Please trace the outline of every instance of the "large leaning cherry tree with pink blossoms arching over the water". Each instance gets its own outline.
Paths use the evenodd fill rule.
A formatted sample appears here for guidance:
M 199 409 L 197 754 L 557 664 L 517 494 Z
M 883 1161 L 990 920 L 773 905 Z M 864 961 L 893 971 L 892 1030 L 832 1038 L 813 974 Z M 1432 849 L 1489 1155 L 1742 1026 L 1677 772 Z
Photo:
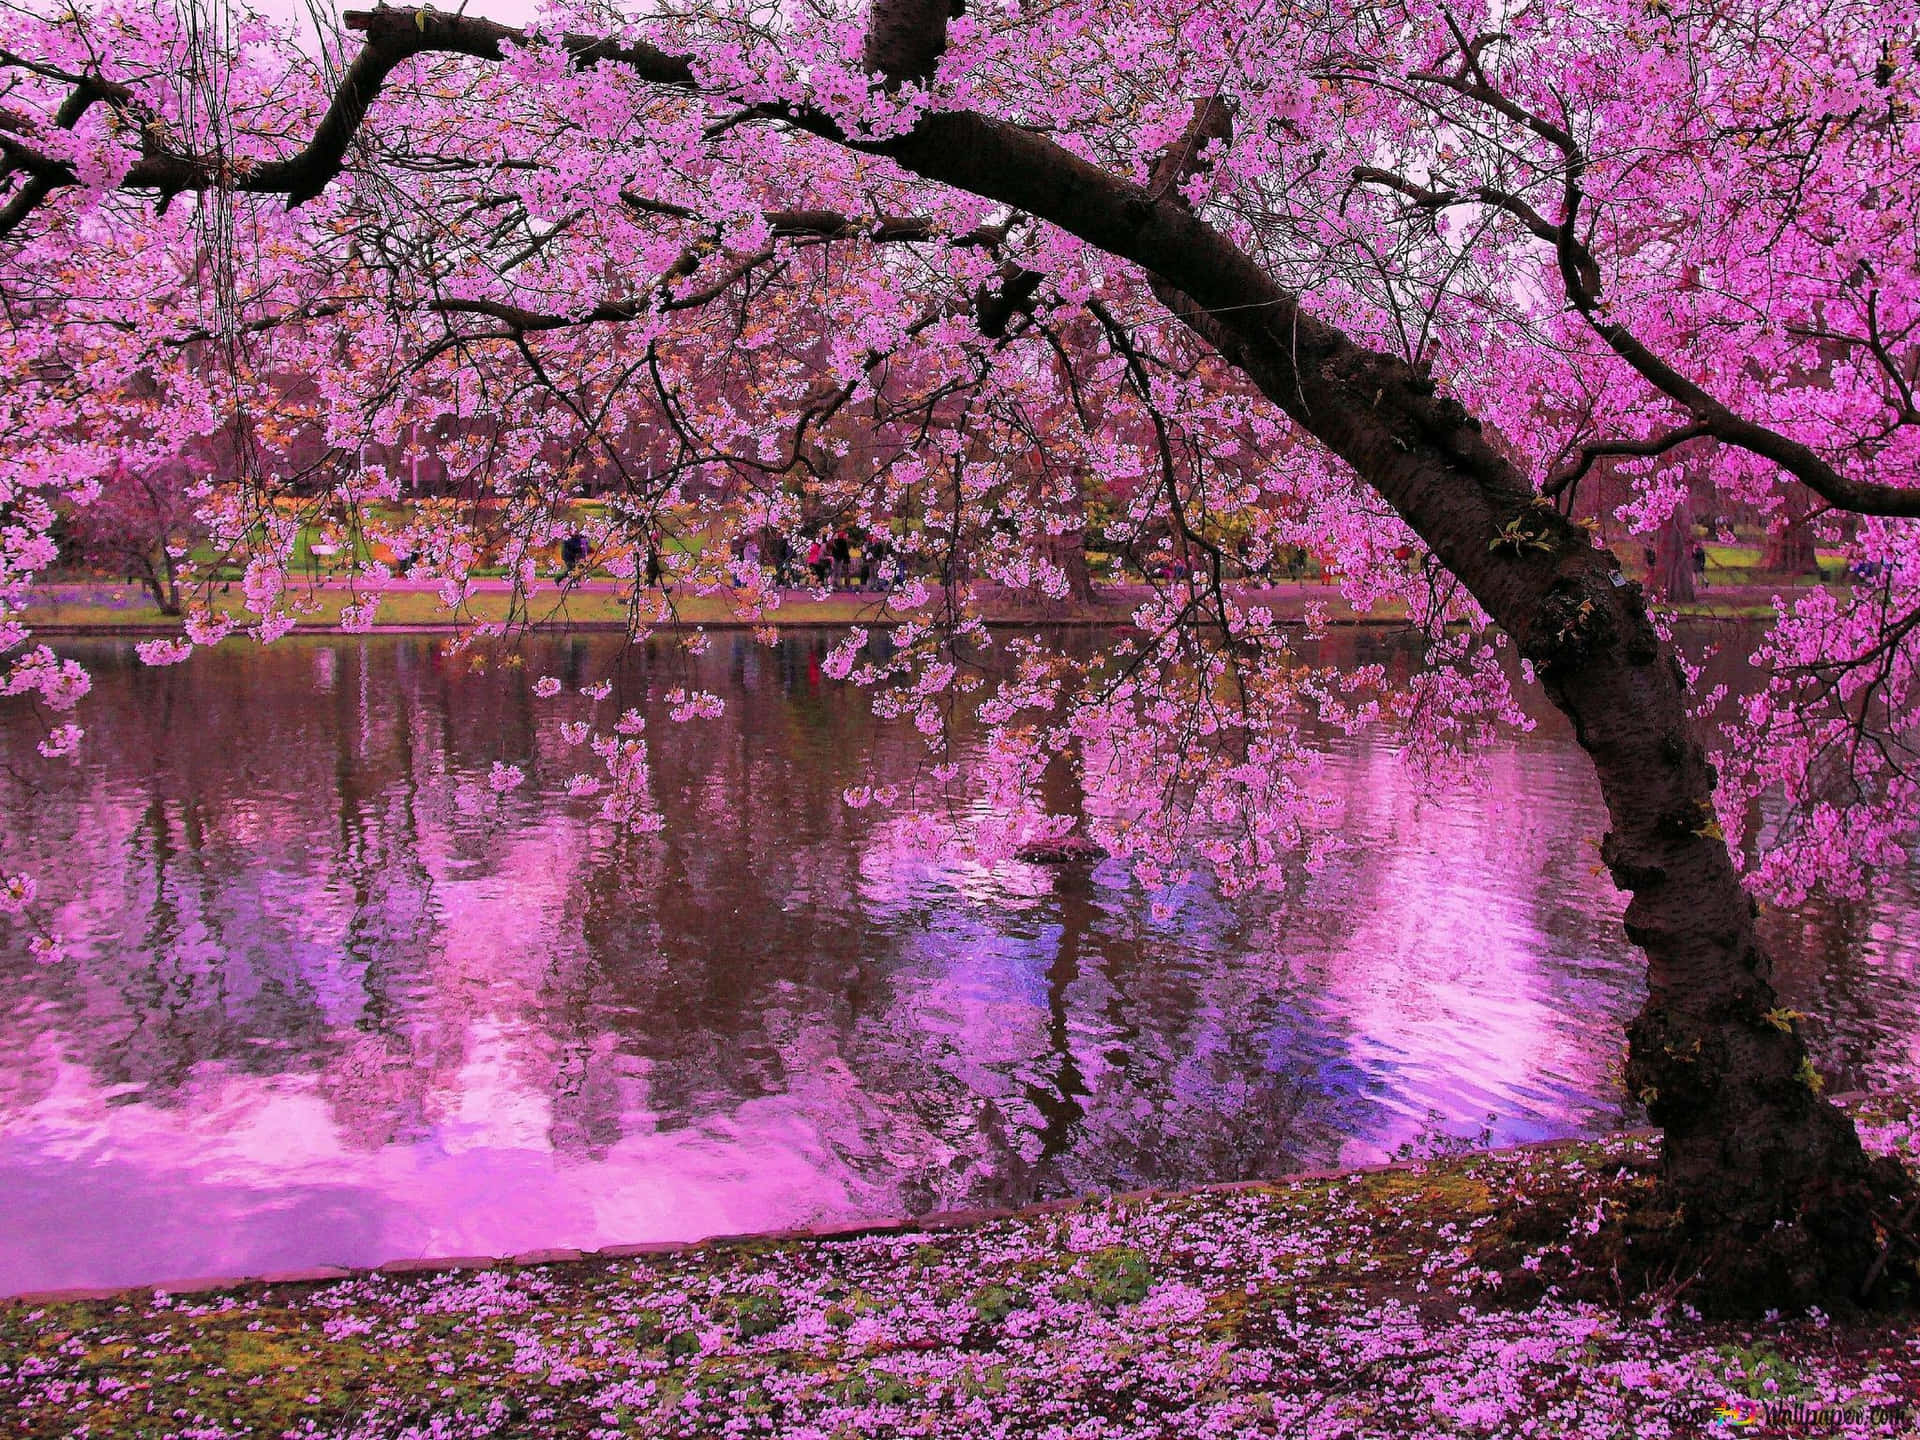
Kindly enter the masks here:
M 484 551 L 538 595 L 584 467 L 612 476 L 589 540 L 628 576 L 670 507 L 795 540 L 912 516 L 891 653 L 856 632 L 829 670 L 935 739 L 977 707 L 1016 841 L 1062 833 L 1033 801 L 1075 756 L 1146 885 L 1311 860 L 1315 735 L 1396 720 L 1444 770 L 1513 718 L 1511 645 L 1611 814 L 1647 956 L 1628 1087 L 1703 1288 L 1885 1290 L 1912 1185 L 1820 1098 L 1749 887 L 1870 883 L 1920 810 L 1920 36 L 1895 10 L 682 0 L 528 29 L 382 8 L 319 50 L 140 0 L 23 19 L 0 54 L 6 687 L 77 699 L 27 649 L 52 503 L 240 415 L 259 444 L 205 518 L 252 557 L 261 639 L 296 616 L 290 472 L 374 528 L 399 476 L 361 457 L 420 432 L 490 497 L 484 540 L 457 507 L 394 536 L 455 611 Z M 317 390 L 300 417 L 288 374 Z M 134 422 L 136 386 L 167 426 Z M 300 426 L 324 459 L 290 459 Z M 636 434 L 664 451 L 639 463 Z M 1638 534 L 1711 486 L 1870 580 L 1782 601 L 1759 695 L 1693 695 L 1571 518 L 1596 467 L 1630 476 Z M 1068 593 L 1050 555 L 1089 484 L 1125 497 L 1121 545 L 1165 534 L 1181 564 L 1117 651 L 1025 645 L 985 685 L 964 580 Z M 1405 603 L 1428 668 L 1304 664 L 1231 584 L 1290 547 L 1357 605 Z M 776 616 L 724 545 L 664 580 L 636 630 L 676 586 Z M 228 630 L 202 609 L 150 657 Z M 591 735 L 584 781 L 643 822 L 639 728 Z M 931 822 L 933 789 L 854 799 Z

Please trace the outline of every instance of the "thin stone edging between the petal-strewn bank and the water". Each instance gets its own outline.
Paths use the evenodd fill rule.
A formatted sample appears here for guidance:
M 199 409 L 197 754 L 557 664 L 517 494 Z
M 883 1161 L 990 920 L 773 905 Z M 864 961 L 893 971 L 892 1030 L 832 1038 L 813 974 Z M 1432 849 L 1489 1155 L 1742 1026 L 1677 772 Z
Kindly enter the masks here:
M 1836 1100 L 1864 1100 L 1870 1098 L 1870 1091 L 1857 1091 L 1849 1094 L 1837 1094 Z M 1649 1139 L 1659 1131 L 1653 1127 L 1632 1127 L 1620 1131 L 1607 1131 L 1603 1135 L 1576 1135 L 1557 1140 L 1524 1140 L 1521 1144 L 1496 1146 L 1488 1150 L 1473 1150 L 1459 1156 L 1450 1156 L 1452 1160 L 1476 1160 L 1476 1158 L 1509 1158 L 1524 1154 L 1551 1154 L 1555 1150 L 1569 1150 L 1582 1144 L 1596 1144 L 1601 1140 L 1617 1139 Z M 219 1294 L 219 1292 L 261 1292 L 280 1286 L 309 1286 L 309 1284 L 334 1284 L 340 1281 L 365 1281 L 376 1277 L 407 1277 L 407 1275 L 451 1275 L 457 1271 L 488 1271 L 488 1269 L 534 1269 L 549 1265 L 607 1265 L 620 1260 L 637 1260 L 645 1256 L 680 1256 L 695 1250 L 733 1250 L 760 1244 L 833 1244 L 841 1240 L 864 1240 L 870 1236 L 883 1235 L 945 1235 L 954 1231 L 970 1231 L 981 1225 L 993 1225 L 1000 1221 L 1021 1221 L 1039 1219 L 1043 1215 L 1058 1215 L 1071 1210 L 1081 1210 L 1083 1206 L 1100 1206 L 1114 1202 L 1137 1202 L 1137 1200 L 1175 1200 L 1181 1196 L 1202 1196 L 1202 1194 L 1244 1194 L 1254 1190 L 1286 1190 L 1296 1185 L 1315 1185 L 1323 1181 L 1340 1181 L 1357 1175 L 1384 1175 L 1394 1171 L 1413 1171 L 1434 1164 L 1434 1158 L 1413 1158 L 1413 1160 L 1386 1160 L 1373 1165 L 1334 1165 L 1327 1169 L 1304 1169 L 1292 1175 L 1275 1175 L 1263 1181 L 1215 1181 L 1210 1185 L 1171 1185 L 1171 1187 L 1148 1187 L 1140 1190 L 1114 1190 L 1114 1192 L 1089 1192 L 1077 1196 L 1060 1196 L 1056 1200 L 1037 1200 L 1027 1206 L 1014 1208 L 989 1208 L 989 1210 L 935 1210 L 924 1215 L 900 1215 L 893 1219 L 851 1219 L 851 1221 L 829 1221 L 822 1225 L 799 1225 L 778 1231 L 753 1231 L 745 1235 L 705 1235 L 695 1240 L 641 1240 L 637 1244 L 607 1244 L 597 1250 L 574 1250 L 570 1246 L 553 1246 L 543 1250 L 522 1250 L 515 1256 L 405 1256 L 397 1260 L 386 1260 L 378 1265 L 309 1265 L 303 1269 L 286 1271 L 265 1271 L 261 1275 L 205 1275 L 182 1281 L 152 1281 L 148 1284 L 117 1284 L 117 1286 L 75 1286 L 63 1290 L 25 1290 L 21 1294 L 0 1296 L 0 1308 L 36 1308 L 36 1306 L 63 1306 L 63 1304 L 92 1304 L 92 1302 L 140 1302 L 150 1300 L 156 1294 L 165 1296 L 186 1296 L 186 1294 Z

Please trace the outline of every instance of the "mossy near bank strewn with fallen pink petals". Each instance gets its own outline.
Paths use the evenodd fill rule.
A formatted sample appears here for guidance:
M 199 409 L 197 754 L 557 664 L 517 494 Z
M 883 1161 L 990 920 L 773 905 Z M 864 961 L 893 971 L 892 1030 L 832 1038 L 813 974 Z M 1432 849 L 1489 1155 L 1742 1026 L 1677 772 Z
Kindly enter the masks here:
M 1920 1104 L 1862 1135 L 1920 1156 Z M 1920 1430 L 1910 1317 L 1563 1294 L 1594 1292 L 1580 1258 L 1645 1212 L 1649 1162 L 1617 1137 L 948 1233 L 12 1306 L 0 1434 Z

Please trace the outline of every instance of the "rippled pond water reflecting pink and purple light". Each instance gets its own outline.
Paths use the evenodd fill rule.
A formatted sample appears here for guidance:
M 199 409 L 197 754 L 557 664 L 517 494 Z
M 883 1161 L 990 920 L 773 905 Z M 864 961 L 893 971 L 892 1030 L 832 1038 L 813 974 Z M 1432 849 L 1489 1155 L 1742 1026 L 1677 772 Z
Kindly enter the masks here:
M 227 645 L 96 676 L 79 766 L 0 714 L 0 1294 L 689 1238 L 1277 1175 L 1622 1121 L 1642 966 L 1567 730 L 1423 797 L 1340 741 L 1350 847 L 1162 918 L 1114 860 L 981 868 L 841 801 L 924 762 L 822 674 L 831 634 L 701 657 L 536 641 L 670 685 L 666 828 L 609 845 L 561 708 L 432 637 Z M 1321 659 L 1405 662 L 1336 632 Z M 964 758 L 964 756 L 962 756 Z M 528 783 L 470 799 L 495 760 Z M 1836 1089 L 1920 1077 L 1910 877 L 1768 912 Z

